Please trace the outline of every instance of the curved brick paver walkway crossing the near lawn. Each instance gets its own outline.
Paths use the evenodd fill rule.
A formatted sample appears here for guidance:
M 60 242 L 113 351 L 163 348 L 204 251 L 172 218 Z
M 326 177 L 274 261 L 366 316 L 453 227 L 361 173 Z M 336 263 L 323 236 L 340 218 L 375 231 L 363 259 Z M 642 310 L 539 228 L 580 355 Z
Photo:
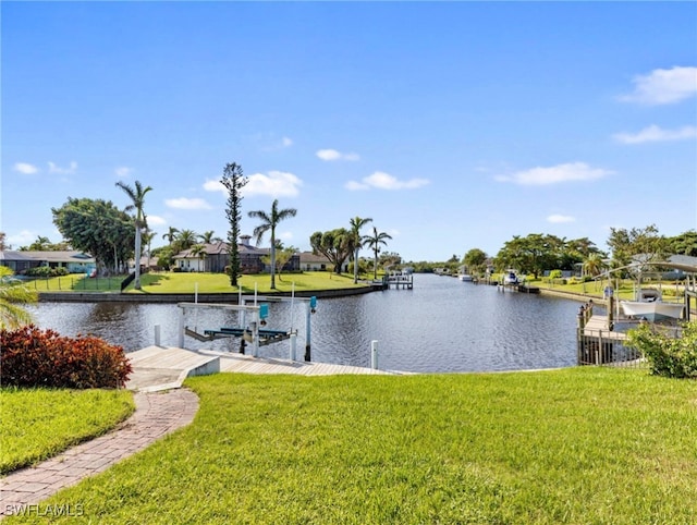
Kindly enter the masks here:
M 0 478 L 0 516 L 20 512 L 82 478 L 106 471 L 162 436 L 188 425 L 198 398 L 185 389 L 134 395 L 135 413 L 117 429 L 34 467 Z

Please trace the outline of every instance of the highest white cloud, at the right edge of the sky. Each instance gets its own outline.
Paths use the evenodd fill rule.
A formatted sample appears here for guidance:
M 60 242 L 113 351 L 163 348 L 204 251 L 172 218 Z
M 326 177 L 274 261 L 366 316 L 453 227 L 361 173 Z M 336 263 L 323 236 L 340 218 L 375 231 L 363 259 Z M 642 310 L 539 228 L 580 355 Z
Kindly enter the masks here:
M 697 94 L 697 68 L 674 66 L 653 70 L 648 75 L 635 76 L 634 93 L 620 100 L 648 106 L 680 102 Z

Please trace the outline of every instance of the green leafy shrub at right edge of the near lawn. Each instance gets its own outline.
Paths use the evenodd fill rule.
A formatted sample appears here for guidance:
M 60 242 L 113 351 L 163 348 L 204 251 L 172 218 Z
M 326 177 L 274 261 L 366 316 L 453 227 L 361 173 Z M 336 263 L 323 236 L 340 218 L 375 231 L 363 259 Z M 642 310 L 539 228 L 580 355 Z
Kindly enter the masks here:
M 683 326 L 682 338 L 671 338 L 643 323 L 628 332 L 628 342 L 651 366 L 651 374 L 674 378 L 697 378 L 697 321 Z

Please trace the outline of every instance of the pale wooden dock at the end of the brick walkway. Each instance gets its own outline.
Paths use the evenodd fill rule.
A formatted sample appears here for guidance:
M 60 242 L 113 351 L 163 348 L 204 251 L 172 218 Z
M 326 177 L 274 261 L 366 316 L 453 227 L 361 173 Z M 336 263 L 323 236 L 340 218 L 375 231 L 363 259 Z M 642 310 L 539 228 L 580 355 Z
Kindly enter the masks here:
M 175 346 L 148 346 L 131 352 L 127 356 L 133 367 L 133 374 L 131 374 L 126 388 L 145 392 L 179 388 L 189 376 L 203 376 L 219 371 L 299 376 L 409 374 L 359 366 L 253 357 L 212 350 L 185 350 Z

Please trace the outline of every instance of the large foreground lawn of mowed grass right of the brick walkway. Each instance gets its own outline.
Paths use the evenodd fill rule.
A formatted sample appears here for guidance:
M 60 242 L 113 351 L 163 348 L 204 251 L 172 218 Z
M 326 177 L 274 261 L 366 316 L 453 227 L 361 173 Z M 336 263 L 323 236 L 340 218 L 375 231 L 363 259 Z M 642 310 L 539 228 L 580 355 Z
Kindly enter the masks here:
M 44 503 L 100 524 L 697 521 L 694 381 L 572 368 L 186 384 L 191 426 Z

